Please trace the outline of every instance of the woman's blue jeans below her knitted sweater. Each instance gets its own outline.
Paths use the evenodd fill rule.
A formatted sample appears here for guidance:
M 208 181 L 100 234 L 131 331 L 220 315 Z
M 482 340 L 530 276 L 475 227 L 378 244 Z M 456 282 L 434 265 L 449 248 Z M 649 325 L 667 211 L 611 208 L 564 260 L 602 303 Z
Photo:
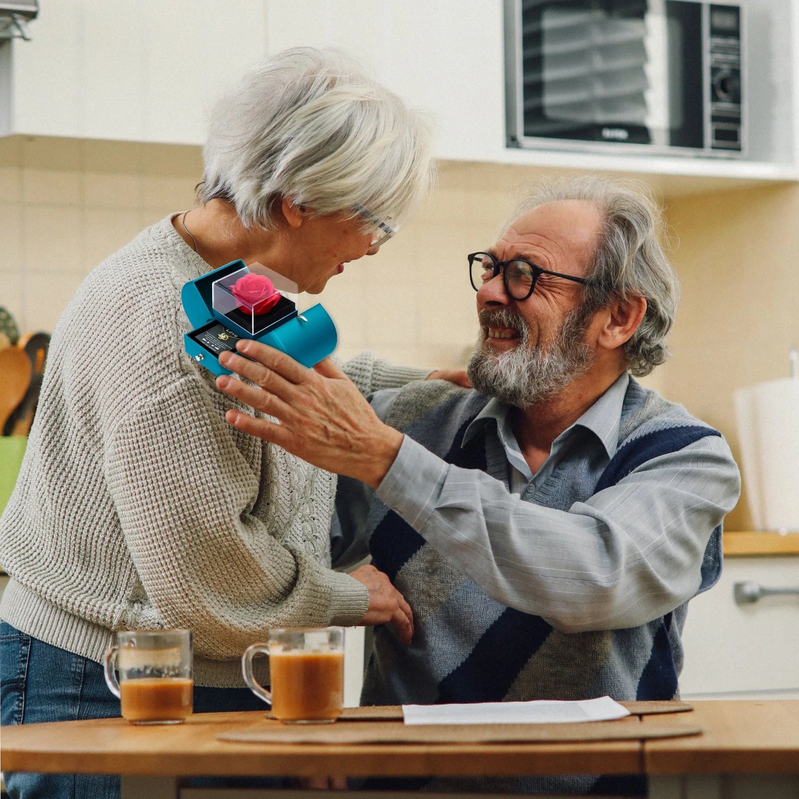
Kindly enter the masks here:
M 194 688 L 194 712 L 265 710 L 248 688 Z M 119 716 L 119 700 L 98 663 L 0 622 L 0 722 L 77 721 Z M 119 777 L 5 773 L 12 799 L 119 799 Z M 197 781 L 199 785 L 279 787 L 280 780 Z

